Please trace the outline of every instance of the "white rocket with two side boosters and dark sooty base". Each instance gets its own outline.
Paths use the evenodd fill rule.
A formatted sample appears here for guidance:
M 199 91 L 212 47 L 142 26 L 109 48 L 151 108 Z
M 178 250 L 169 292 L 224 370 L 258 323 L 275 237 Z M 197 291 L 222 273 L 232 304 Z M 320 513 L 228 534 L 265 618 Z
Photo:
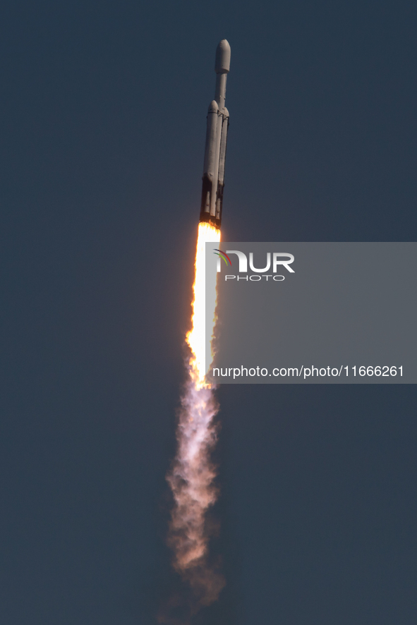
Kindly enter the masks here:
M 229 111 L 224 106 L 226 80 L 230 69 L 230 46 L 224 39 L 217 46 L 216 94 L 207 114 L 205 136 L 203 190 L 201 193 L 200 222 L 209 222 L 220 228 L 224 188 L 224 162 L 226 160 Z

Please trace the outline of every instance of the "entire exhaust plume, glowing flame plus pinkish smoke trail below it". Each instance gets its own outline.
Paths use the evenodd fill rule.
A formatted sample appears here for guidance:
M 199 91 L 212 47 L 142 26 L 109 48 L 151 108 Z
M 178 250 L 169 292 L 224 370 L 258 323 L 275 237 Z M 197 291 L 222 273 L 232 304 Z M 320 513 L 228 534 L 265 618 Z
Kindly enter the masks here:
M 213 357 L 211 353 L 211 357 L 205 360 L 206 315 L 209 315 L 212 336 L 217 299 L 213 283 L 206 301 L 205 243 L 219 241 L 219 230 L 210 224 L 199 224 L 192 328 L 186 336 L 191 348 L 189 377 L 181 398 L 176 458 L 167 476 L 174 494 L 168 538 L 169 546 L 174 551 L 174 569 L 191 586 L 199 605 L 210 605 L 224 586 L 224 578 L 207 563 L 210 532 L 205 523 L 205 513 L 217 499 L 213 483 L 216 471 L 210 461 L 210 451 L 216 442 L 213 420 L 218 411 L 214 386 L 205 384 L 206 367 L 207 370 L 210 368 Z M 198 607 L 194 613 L 197 610 Z

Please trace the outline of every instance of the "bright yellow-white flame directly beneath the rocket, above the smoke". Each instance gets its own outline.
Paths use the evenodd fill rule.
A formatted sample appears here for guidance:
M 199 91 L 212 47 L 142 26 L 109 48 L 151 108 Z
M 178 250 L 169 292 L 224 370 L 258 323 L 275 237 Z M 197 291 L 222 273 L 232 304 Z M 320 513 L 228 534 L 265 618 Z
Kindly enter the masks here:
M 215 288 L 207 293 L 205 287 L 205 243 L 219 243 L 220 231 L 211 224 L 198 224 L 197 249 L 195 250 L 195 279 L 193 284 L 193 315 L 191 316 L 193 327 L 186 336 L 186 341 L 191 348 L 193 356 L 190 360 L 191 376 L 196 388 L 200 389 L 204 385 L 205 374 L 212 363 L 211 358 L 205 358 L 206 351 L 206 315 L 207 322 L 210 320 L 210 337 L 213 334 L 216 310 Z

